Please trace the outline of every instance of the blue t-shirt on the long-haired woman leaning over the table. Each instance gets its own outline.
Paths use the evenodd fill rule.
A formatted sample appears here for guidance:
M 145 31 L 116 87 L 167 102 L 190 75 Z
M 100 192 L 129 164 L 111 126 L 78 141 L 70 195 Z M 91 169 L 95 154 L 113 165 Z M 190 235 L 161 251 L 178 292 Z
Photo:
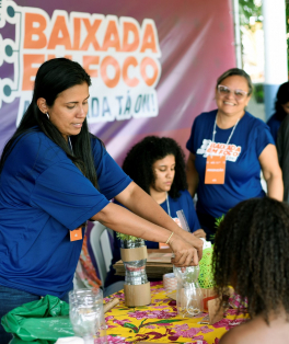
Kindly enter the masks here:
M 23 136 L 0 174 L 0 285 L 36 295 L 72 288 L 82 240 L 73 230 L 131 180 L 92 137 L 100 191 L 44 133 Z

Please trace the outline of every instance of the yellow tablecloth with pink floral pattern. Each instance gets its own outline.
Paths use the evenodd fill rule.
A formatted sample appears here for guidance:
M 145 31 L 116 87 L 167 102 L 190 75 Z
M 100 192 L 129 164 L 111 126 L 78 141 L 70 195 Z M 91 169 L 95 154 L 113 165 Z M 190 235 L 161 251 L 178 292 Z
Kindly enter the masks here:
M 124 294 L 113 294 L 120 302 L 106 312 L 109 343 L 195 343 L 217 344 L 230 329 L 245 321 L 244 316 L 236 317 L 235 309 L 229 309 L 226 318 L 213 325 L 199 324 L 206 313 L 195 318 L 177 317 L 176 302 L 165 295 L 161 282 L 151 283 L 151 305 L 144 307 L 125 307 Z M 105 301 L 109 301 L 105 298 Z

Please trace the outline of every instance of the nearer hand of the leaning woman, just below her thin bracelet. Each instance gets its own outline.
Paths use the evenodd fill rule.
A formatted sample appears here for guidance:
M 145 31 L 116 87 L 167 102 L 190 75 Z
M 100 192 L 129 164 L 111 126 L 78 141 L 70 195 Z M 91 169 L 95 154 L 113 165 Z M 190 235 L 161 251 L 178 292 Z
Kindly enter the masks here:
M 172 236 L 169 244 L 174 253 L 174 257 L 172 259 L 172 264 L 180 267 L 198 265 L 199 257 L 198 257 L 197 250 L 193 245 L 184 241 L 176 233 Z

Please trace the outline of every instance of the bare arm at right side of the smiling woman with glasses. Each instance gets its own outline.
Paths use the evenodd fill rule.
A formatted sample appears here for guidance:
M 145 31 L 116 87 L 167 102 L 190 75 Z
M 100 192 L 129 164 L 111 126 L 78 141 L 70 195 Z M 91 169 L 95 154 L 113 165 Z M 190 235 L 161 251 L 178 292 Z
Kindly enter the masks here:
M 271 144 L 267 145 L 259 154 L 258 160 L 267 183 L 268 197 L 281 202 L 284 199 L 284 183 L 276 147 Z

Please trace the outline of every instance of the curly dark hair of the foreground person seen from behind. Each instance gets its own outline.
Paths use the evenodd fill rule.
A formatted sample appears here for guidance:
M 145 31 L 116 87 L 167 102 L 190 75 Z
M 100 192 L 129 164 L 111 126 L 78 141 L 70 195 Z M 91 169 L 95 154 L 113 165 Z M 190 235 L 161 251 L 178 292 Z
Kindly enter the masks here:
M 289 320 L 289 205 L 264 197 L 241 202 L 224 217 L 213 248 L 216 289 L 232 285 L 248 314 L 263 314 L 284 307 Z M 221 294 L 219 294 L 221 295 Z

